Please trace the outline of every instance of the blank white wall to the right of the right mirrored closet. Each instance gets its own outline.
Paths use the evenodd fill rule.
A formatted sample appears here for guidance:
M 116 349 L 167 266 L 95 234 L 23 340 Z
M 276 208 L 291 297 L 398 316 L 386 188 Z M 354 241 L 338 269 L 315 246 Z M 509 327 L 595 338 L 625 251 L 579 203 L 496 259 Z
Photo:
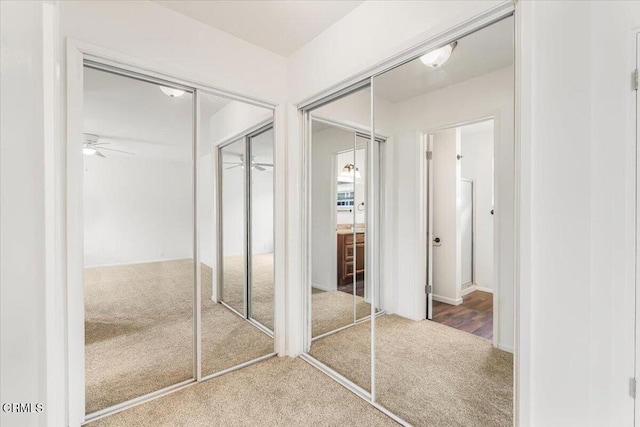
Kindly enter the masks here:
M 524 417 L 630 426 L 640 3 L 523 8 Z

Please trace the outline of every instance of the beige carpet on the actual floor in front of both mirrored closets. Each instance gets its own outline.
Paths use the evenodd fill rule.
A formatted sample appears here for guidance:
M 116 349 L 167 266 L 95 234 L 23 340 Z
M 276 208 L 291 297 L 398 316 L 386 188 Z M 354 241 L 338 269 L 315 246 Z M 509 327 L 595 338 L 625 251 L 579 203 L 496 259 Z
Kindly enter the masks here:
M 272 358 L 88 425 L 328 427 L 397 424 L 306 362 Z

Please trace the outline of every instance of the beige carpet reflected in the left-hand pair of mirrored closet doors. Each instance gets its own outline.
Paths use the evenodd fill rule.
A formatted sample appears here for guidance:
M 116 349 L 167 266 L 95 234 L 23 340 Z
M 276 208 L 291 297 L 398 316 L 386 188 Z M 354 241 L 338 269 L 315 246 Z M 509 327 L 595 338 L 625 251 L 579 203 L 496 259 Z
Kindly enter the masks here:
M 202 266 L 202 283 L 211 269 Z M 202 287 L 202 372 L 273 352 L 273 340 Z M 192 378 L 193 262 L 85 269 L 86 411 Z

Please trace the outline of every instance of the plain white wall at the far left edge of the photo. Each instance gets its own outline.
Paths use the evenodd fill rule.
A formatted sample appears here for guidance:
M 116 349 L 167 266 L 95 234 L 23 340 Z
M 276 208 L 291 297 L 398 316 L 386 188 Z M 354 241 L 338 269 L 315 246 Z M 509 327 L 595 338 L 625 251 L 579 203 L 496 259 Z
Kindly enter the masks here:
M 2 403 L 62 404 L 49 400 L 55 373 L 46 354 L 59 338 L 55 324 L 47 327 L 50 299 L 56 286 L 50 221 L 52 182 L 50 159 L 55 129 L 50 122 L 54 104 L 48 92 L 55 82 L 47 45 L 55 23 L 50 5 L 39 2 L 0 3 L 0 395 Z M 49 50 L 48 50 L 49 49 Z M 54 265 L 55 268 L 55 265 Z M 45 334 L 47 332 L 48 334 Z M 63 376 L 63 375 L 60 375 Z M 56 390 L 57 391 L 57 390 Z M 0 413 L 0 424 L 52 425 L 60 418 L 55 406 L 46 412 Z M 55 420 L 55 421 L 54 421 Z

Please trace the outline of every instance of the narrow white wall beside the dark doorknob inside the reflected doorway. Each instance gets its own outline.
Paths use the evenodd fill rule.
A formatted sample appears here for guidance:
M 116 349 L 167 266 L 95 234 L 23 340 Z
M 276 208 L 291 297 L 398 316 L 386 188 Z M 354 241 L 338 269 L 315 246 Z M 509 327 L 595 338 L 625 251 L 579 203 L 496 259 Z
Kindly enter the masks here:
M 433 298 L 459 305 L 460 245 L 460 129 L 433 134 Z M 414 212 L 414 215 L 416 213 Z M 408 295 L 407 295 L 408 297 Z

